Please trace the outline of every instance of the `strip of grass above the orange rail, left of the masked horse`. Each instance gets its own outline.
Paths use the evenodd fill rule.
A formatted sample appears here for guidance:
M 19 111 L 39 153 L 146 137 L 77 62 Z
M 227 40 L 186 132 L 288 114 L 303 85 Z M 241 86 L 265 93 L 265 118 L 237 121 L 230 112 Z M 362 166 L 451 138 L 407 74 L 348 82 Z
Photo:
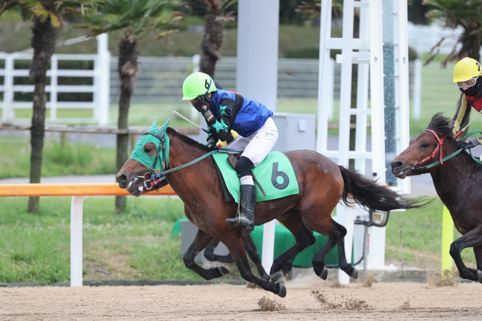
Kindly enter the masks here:
M 30 142 L 16 136 L 0 137 L 0 178 L 28 177 Z M 42 176 L 115 174 L 115 150 L 92 145 L 66 145 L 46 141 Z

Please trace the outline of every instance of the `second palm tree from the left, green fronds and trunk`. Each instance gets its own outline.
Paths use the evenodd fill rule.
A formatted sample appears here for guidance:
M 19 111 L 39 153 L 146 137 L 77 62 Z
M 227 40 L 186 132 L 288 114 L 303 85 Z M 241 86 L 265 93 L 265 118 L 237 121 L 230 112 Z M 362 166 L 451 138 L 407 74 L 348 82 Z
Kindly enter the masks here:
M 139 42 L 165 37 L 177 30 L 166 30 L 169 25 L 182 19 L 182 14 L 166 13 L 166 2 L 159 0 L 105 0 L 103 9 L 97 15 L 85 17 L 86 24 L 77 27 L 86 29 L 90 36 L 115 32 L 120 38 L 118 45 L 118 73 L 121 80 L 119 117 L 117 127 L 128 128 L 131 96 L 139 73 L 137 45 Z M 128 134 L 117 134 L 117 171 L 129 158 Z M 115 209 L 122 213 L 126 208 L 126 197 L 115 198 Z

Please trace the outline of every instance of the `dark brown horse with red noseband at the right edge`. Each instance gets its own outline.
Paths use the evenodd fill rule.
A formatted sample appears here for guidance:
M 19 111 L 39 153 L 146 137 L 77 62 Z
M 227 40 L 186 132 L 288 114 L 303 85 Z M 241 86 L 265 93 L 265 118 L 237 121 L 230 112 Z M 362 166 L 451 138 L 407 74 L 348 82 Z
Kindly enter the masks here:
M 408 148 L 392 161 L 392 173 L 400 179 L 430 173 L 440 200 L 449 210 L 455 228 L 463 235 L 450 245 L 450 255 L 460 277 L 482 283 L 482 166 L 475 163 L 467 152 L 460 152 L 444 161 L 443 165 L 430 169 L 419 164 L 429 158 L 423 162 L 429 166 L 441 156 L 446 157 L 461 148 L 453 138 L 449 124 L 447 118 L 440 113 L 435 114 L 427 130 L 413 138 Z M 467 247 L 473 248 L 477 269 L 467 268 L 462 262 L 460 252 Z

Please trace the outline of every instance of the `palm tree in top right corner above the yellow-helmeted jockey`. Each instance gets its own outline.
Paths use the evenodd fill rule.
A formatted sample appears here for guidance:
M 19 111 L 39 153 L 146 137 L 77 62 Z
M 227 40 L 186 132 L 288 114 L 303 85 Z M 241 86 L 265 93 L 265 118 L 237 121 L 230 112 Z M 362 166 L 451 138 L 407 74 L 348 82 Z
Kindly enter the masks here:
M 452 52 L 445 58 L 442 65 L 445 67 L 447 62 L 460 60 L 465 57 L 480 60 L 480 33 L 482 32 L 482 0 L 424 0 L 423 5 L 433 6 L 437 9 L 427 12 L 427 18 L 442 18 L 445 25 L 449 28 L 457 28 L 461 26 L 463 33 L 458 38 L 458 43 L 462 47 L 457 50 L 453 48 Z M 444 39 L 432 49 L 432 56 L 425 64 L 437 55 L 435 52 L 438 46 L 442 44 Z M 435 52 L 435 54 L 433 54 Z

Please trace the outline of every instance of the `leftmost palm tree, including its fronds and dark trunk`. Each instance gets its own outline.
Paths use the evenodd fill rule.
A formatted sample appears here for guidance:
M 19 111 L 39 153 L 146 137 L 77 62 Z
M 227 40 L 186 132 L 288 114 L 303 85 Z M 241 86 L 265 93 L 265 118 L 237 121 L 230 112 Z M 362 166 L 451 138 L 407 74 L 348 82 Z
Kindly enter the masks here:
M 30 183 L 40 183 L 42 170 L 42 149 L 44 145 L 45 125 L 45 86 L 50 58 L 55 51 L 58 31 L 65 25 L 67 16 L 90 12 L 95 9 L 96 0 L 4 0 L 0 2 L 0 15 L 7 10 L 20 7 L 24 20 L 31 20 L 32 48 L 34 57 L 30 64 L 30 77 L 33 78 L 35 89 L 33 93 L 32 127 L 30 129 Z M 28 211 L 37 212 L 39 198 L 29 198 Z

